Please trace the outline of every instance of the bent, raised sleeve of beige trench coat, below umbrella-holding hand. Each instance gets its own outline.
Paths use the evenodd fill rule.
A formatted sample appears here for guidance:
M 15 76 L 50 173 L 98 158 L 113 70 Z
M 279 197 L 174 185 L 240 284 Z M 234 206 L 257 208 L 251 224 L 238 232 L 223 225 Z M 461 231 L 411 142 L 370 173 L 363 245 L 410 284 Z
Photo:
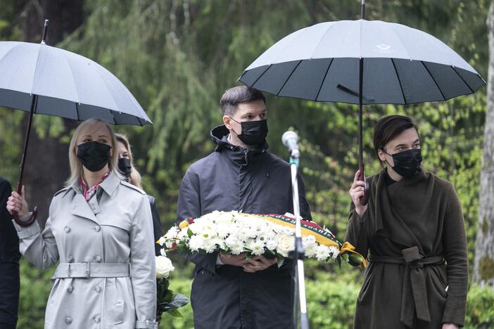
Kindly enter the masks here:
M 49 212 L 54 207 L 55 199 L 51 201 Z M 39 269 L 48 269 L 58 261 L 58 248 L 55 237 L 51 233 L 51 219 L 48 217 L 44 230 L 41 231 L 38 221 L 27 227 L 19 226 L 12 221 L 19 236 L 19 250 Z

